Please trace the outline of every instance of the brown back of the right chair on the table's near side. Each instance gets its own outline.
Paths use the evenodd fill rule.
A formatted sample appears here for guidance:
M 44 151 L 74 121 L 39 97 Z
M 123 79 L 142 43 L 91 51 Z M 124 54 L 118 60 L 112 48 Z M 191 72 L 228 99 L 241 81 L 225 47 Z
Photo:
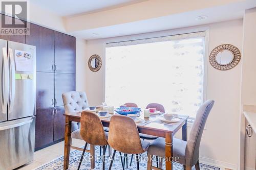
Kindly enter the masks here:
M 110 119 L 109 145 L 126 154 L 140 154 L 144 150 L 139 132 L 131 117 L 115 114 Z

